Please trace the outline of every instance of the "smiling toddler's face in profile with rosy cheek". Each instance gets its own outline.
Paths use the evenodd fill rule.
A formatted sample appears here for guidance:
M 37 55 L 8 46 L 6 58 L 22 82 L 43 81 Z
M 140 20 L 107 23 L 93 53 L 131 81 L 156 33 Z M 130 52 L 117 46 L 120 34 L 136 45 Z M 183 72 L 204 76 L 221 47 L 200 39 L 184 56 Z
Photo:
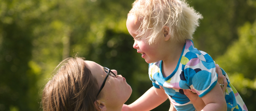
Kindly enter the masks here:
M 144 58 L 147 63 L 154 63 L 161 60 L 160 58 L 162 55 L 161 55 L 161 50 L 159 50 L 161 45 L 158 45 L 158 44 L 149 45 L 147 39 L 136 38 L 136 36 L 138 35 L 138 32 L 136 31 L 139 29 L 140 23 L 138 21 L 136 22 L 136 24 L 134 24 L 134 21 L 135 19 L 134 19 L 134 16 L 132 15 L 128 16 L 126 21 L 126 27 L 128 29 L 128 32 L 134 38 L 133 48 L 137 49 L 137 52 L 142 54 L 141 57 Z

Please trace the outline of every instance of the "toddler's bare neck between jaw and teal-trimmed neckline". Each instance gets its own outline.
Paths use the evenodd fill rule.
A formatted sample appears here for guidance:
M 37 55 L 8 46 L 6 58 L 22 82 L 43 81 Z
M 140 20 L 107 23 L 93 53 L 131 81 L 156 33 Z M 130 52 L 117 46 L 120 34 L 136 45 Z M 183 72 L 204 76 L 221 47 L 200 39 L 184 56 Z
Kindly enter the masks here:
M 163 77 L 170 76 L 170 74 L 175 70 L 183 51 L 184 44 L 185 43 L 176 43 L 176 45 L 170 46 L 170 52 L 167 53 L 168 56 L 163 60 L 162 64 Z

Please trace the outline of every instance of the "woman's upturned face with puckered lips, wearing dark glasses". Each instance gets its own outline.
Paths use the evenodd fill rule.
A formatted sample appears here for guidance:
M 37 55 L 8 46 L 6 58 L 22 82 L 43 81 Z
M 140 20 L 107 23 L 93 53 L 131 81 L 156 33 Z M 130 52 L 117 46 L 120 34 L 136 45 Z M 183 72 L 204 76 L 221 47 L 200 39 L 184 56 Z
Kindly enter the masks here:
M 97 79 L 99 89 L 107 73 L 101 65 L 93 61 L 85 62 L 89 70 L 91 70 L 92 75 Z M 111 71 L 117 75 L 116 70 Z M 119 107 L 123 106 L 128 98 L 130 98 L 132 88 L 127 84 L 126 79 L 122 75 L 117 75 L 116 77 L 108 76 L 101 93 L 104 94 L 102 100 L 105 101 L 108 107 Z

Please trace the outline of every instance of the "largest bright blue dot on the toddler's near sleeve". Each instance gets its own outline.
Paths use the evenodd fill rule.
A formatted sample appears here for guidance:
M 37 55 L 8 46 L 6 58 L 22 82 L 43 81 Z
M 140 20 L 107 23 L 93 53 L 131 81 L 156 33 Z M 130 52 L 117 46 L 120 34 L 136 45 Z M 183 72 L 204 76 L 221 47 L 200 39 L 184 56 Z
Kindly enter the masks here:
M 194 75 L 192 82 L 196 90 L 202 91 L 210 85 L 211 73 L 205 70 L 201 70 Z

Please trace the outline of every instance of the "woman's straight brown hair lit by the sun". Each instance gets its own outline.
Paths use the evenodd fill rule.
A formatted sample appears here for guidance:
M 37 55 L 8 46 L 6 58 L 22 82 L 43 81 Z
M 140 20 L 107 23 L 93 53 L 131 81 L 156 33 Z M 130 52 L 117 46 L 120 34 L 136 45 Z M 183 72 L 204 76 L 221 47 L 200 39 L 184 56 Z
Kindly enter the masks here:
M 96 111 L 98 82 L 84 58 L 67 58 L 55 70 L 43 89 L 43 111 Z

